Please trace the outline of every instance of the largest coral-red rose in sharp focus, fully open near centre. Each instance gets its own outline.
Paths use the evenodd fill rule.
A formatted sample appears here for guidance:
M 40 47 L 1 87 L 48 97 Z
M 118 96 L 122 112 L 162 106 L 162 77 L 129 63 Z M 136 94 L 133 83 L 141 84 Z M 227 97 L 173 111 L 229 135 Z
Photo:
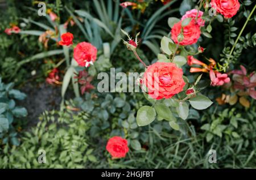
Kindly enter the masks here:
M 160 100 L 171 98 L 183 91 L 185 82 L 183 71 L 175 63 L 156 62 L 149 66 L 144 73 L 143 83 L 148 88 L 148 95 Z

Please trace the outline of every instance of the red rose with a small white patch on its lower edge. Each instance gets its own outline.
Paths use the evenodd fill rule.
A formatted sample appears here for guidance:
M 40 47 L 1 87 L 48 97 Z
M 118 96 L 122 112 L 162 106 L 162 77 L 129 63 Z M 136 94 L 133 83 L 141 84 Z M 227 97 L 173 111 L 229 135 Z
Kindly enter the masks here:
M 80 42 L 74 49 L 74 59 L 79 66 L 93 65 L 97 58 L 97 48 L 89 42 Z

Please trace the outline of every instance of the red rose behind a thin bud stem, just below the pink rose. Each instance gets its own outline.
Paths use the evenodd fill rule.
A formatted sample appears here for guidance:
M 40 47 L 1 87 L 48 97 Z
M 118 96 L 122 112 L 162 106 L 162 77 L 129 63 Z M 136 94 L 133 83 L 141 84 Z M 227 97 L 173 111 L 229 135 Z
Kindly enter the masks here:
M 181 21 L 174 24 L 174 27 L 172 27 L 172 40 L 177 44 L 177 36 L 179 36 L 181 32 Z M 183 27 L 183 40 L 180 41 L 180 45 L 192 45 L 195 44 L 200 37 L 200 26 L 196 24 L 195 19 L 191 19 L 191 22 Z

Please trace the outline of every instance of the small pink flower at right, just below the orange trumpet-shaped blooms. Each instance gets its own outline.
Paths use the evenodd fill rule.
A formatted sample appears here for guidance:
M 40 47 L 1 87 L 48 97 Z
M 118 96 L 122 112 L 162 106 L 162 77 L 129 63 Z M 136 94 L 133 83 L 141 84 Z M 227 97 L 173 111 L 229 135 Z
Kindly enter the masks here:
M 230 82 L 228 74 L 221 74 L 220 72 L 214 72 L 213 70 L 210 70 L 210 80 L 210 85 L 212 86 L 220 86 Z

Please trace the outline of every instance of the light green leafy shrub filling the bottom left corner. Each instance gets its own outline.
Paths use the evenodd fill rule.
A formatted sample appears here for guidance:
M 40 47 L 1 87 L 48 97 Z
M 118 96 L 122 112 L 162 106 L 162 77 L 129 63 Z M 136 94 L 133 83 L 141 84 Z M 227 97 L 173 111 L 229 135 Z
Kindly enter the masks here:
M 0 167 L 85 168 L 97 162 L 88 144 L 87 120 L 88 115 L 82 112 L 44 112 L 38 125 L 23 134 L 20 147 L 5 145 L 0 150 Z M 46 152 L 46 164 L 38 162 L 40 149 Z

